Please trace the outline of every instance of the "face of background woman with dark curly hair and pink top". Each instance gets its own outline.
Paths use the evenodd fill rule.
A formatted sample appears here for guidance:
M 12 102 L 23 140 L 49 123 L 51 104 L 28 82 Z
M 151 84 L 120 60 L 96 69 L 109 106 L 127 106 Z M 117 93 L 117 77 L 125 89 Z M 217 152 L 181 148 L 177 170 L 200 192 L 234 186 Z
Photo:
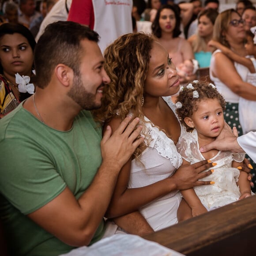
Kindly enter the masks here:
M 174 11 L 171 9 L 163 9 L 159 16 L 159 26 L 163 32 L 171 33 L 176 26 L 176 18 Z

